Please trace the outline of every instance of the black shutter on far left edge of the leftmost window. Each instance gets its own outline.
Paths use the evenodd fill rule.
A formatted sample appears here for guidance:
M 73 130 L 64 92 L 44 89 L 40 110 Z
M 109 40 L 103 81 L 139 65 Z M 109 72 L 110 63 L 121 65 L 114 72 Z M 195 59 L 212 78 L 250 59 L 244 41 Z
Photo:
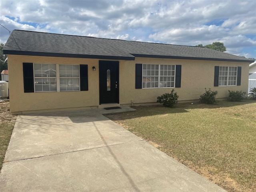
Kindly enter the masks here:
M 24 93 L 34 92 L 33 63 L 23 63 Z

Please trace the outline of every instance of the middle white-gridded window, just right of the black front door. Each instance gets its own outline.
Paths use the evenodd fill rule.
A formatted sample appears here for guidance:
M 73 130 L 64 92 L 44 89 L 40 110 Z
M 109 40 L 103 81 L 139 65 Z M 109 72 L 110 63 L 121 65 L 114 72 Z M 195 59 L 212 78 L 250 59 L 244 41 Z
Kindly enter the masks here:
M 142 88 L 174 87 L 175 65 L 143 64 Z

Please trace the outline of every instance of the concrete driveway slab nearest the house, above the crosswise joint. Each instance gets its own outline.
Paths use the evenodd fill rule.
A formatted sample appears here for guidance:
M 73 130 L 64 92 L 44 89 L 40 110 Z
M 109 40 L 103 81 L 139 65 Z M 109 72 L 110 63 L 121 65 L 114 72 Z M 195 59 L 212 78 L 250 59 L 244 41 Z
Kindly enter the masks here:
M 76 117 L 20 115 L 4 162 L 139 140 L 142 139 L 102 114 Z

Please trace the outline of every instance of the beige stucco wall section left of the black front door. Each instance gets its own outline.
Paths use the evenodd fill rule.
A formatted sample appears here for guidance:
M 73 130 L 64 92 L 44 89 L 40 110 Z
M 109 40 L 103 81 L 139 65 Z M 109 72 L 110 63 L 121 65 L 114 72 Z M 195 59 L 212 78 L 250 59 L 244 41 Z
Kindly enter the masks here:
M 88 91 L 24 93 L 23 62 L 44 64 L 88 64 Z M 82 108 L 99 104 L 98 60 L 8 55 L 10 111 L 25 112 Z M 92 66 L 97 68 L 92 71 Z

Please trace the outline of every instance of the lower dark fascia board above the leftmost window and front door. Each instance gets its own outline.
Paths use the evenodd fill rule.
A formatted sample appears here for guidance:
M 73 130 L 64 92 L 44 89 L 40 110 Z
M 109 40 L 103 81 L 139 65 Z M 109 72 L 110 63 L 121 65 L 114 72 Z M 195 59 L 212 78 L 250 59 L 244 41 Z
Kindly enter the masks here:
M 135 60 L 134 56 L 126 57 L 126 56 L 108 56 L 108 55 L 65 54 L 65 53 L 47 53 L 47 52 L 33 52 L 33 51 L 14 51 L 14 50 L 4 50 L 4 54 L 46 56 L 46 57 L 111 59 L 111 60 Z

